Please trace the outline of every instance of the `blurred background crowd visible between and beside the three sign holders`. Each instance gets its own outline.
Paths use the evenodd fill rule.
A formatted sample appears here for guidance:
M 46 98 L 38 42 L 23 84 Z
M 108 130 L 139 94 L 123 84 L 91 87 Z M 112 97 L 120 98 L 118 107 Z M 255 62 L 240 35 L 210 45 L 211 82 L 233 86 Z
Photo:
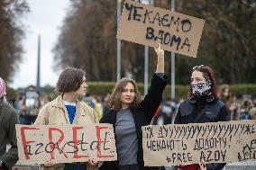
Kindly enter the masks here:
M 28 89 L 32 88 L 34 88 L 33 85 L 28 87 Z M 30 103 L 26 102 L 27 97 L 25 92 L 18 93 L 16 98 L 10 100 L 9 103 L 11 103 L 17 111 L 21 124 L 33 124 L 36 116 L 34 116 L 32 112 L 38 113 L 42 105 L 50 102 L 50 98 L 38 98 L 38 103 Z M 232 95 L 229 85 L 220 85 L 218 87 L 218 95 L 221 101 L 225 103 L 226 107 L 231 112 L 232 121 L 256 119 L 256 99 L 253 98 L 251 94 L 243 94 L 241 97 L 237 97 Z M 83 97 L 82 102 L 87 103 L 89 106 L 94 108 L 96 110 L 97 118 L 100 119 L 105 112 L 109 111 L 109 97 L 110 94 L 106 94 L 105 96 L 87 94 Z M 34 100 L 36 101 L 37 99 Z M 154 124 L 165 125 L 173 123 L 178 106 L 184 100 L 185 98 L 176 101 L 170 97 L 164 97 L 158 110 L 158 119 L 154 121 Z M 32 105 L 32 103 L 34 103 L 34 105 Z M 30 104 L 30 106 L 28 104 Z M 32 109 L 32 107 L 35 108 Z

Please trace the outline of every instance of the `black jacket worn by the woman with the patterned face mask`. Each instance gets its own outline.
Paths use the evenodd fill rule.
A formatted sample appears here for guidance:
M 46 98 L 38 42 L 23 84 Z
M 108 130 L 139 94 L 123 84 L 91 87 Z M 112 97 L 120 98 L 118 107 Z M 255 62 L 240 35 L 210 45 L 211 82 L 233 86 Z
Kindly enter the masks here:
M 230 120 L 230 112 L 220 100 L 211 97 L 192 97 L 180 103 L 174 123 L 187 124 Z M 207 170 L 221 170 L 224 166 L 225 163 L 207 164 Z

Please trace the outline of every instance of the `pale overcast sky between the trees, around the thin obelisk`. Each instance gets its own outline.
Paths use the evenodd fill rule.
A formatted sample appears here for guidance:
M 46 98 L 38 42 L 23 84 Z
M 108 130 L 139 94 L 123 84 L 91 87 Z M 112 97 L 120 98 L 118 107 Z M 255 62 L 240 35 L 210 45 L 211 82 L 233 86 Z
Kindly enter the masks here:
M 41 86 L 56 85 L 59 73 L 53 67 L 53 53 L 60 27 L 69 10 L 69 0 L 26 0 L 31 12 L 23 17 L 26 25 L 23 39 L 23 61 L 16 70 L 14 88 L 36 85 L 37 44 L 41 35 Z

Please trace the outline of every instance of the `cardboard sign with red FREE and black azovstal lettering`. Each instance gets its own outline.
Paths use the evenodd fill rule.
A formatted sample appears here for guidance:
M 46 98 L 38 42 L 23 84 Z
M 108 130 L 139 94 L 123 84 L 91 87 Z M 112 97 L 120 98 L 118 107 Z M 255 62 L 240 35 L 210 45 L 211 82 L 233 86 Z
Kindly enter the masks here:
M 116 160 L 114 130 L 110 124 L 16 125 L 19 161 L 22 164 Z

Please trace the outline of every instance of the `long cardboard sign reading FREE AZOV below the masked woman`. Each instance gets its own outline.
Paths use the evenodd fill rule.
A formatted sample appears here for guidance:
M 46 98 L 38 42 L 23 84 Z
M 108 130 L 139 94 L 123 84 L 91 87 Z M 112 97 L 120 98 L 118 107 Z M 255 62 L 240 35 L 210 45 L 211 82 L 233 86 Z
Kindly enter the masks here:
M 256 121 L 142 127 L 145 166 L 256 160 Z

